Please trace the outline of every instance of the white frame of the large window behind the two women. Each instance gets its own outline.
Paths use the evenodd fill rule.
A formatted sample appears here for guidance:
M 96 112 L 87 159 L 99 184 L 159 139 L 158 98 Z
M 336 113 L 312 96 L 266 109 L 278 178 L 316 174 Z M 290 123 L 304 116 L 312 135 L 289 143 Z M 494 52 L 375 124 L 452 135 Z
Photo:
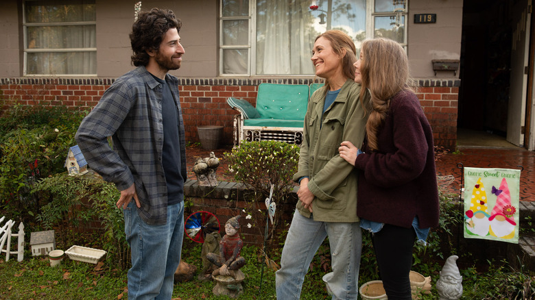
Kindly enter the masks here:
M 219 76 L 221 77 L 237 77 L 237 76 L 272 76 L 272 75 L 258 75 L 256 70 L 257 61 L 257 1 L 249 0 L 249 15 L 248 16 L 223 16 L 223 1 L 219 0 Z M 407 51 L 407 25 L 409 19 L 409 0 L 405 0 L 405 11 L 402 12 L 375 12 L 375 0 L 366 0 L 366 38 L 374 38 L 375 34 L 375 17 L 376 16 L 396 16 L 397 14 L 405 16 L 404 41 L 401 43 L 405 51 Z M 226 20 L 248 20 L 249 21 L 249 40 L 248 45 L 222 45 L 223 40 L 223 22 Z M 248 68 L 247 73 L 243 74 L 225 74 L 223 73 L 223 51 L 224 49 L 248 49 Z M 275 76 L 291 76 L 291 77 L 309 77 L 313 74 L 291 74 L 291 75 L 275 75 Z

